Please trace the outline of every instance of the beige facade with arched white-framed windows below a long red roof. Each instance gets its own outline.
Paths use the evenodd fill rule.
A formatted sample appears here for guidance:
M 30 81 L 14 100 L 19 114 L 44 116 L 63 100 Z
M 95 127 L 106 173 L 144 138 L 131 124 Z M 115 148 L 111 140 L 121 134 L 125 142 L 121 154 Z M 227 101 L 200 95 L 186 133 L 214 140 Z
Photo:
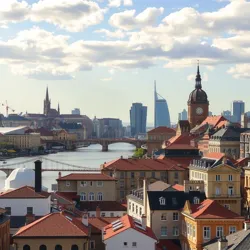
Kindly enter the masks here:
M 76 192 L 81 201 L 115 201 L 116 181 L 57 180 L 59 192 Z

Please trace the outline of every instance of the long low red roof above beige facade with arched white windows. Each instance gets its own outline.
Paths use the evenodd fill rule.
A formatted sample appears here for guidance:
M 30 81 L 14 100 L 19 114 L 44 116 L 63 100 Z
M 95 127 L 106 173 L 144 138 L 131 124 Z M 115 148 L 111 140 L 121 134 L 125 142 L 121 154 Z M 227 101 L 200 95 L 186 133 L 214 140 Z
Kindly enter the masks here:
M 115 181 L 116 179 L 106 174 L 69 174 L 57 179 L 58 181 Z

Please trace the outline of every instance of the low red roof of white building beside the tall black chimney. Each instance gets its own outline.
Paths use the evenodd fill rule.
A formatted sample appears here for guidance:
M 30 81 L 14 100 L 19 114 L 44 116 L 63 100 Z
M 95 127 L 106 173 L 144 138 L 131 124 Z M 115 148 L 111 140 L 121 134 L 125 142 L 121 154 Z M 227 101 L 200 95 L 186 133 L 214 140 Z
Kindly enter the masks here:
M 29 186 L 0 193 L 0 199 L 46 199 L 49 196 L 50 193 L 45 191 L 36 193 L 35 189 Z

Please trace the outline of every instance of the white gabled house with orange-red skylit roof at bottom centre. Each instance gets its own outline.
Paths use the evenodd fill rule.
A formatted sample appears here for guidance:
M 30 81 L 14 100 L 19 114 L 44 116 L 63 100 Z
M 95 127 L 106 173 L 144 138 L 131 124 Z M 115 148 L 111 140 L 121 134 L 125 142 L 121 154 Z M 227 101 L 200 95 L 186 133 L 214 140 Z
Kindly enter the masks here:
M 157 239 L 145 217 L 137 221 L 125 215 L 103 228 L 103 242 L 106 250 L 155 250 Z

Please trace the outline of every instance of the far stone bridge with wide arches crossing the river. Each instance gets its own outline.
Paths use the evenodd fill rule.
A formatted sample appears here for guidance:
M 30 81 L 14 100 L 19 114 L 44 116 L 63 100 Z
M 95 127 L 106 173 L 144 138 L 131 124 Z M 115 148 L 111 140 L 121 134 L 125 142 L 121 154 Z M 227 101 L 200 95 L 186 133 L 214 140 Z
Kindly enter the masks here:
M 43 142 L 47 144 L 58 143 L 66 147 L 70 145 L 79 145 L 81 143 L 100 144 L 102 146 L 102 151 L 107 152 L 108 146 L 113 143 L 117 143 L 117 142 L 129 143 L 129 144 L 134 145 L 136 148 L 141 148 L 142 145 L 147 143 L 147 140 L 138 140 L 138 139 L 133 139 L 133 138 L 118 138 L 118 139 L 117 138 L 114 138 L 114 139 L 97 138 L 97 139 L 84 139 L 84 140 L 76 140 L 76 141 L 43 140 Z

